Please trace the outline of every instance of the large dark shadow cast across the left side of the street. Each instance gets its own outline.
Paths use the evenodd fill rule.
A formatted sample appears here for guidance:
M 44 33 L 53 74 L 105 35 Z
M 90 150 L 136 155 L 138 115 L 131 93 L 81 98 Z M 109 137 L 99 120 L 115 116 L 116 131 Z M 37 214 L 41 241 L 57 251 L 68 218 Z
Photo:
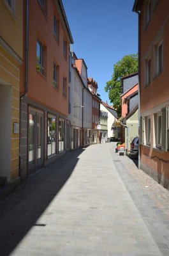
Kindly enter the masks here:
M 84 150 L 65 154 L 0 201 L 0 255 L 10 255 L 33 226 L 45 227 L 38 219 L 66 184 Z

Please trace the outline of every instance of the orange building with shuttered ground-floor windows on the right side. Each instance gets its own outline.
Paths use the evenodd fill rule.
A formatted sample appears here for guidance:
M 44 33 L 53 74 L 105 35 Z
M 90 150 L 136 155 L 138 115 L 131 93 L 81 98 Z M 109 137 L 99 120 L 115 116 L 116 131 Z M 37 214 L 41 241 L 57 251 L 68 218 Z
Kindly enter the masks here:
M 169 188 L 169 1 L 136 0 L 140 12 L 141 168 Z

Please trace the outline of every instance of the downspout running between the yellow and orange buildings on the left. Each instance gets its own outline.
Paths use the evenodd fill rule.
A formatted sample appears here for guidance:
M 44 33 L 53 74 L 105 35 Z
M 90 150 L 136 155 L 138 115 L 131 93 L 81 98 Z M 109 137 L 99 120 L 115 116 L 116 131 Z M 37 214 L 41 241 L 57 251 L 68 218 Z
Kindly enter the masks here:
M 28 52 L 29 52 L 29 0 L 26 0 L 26 81 L 25 81 L 25 92 L 20 95 L 20 118 L 19 118 L 19 172 L 21 171 L 21 156 L 20 156 L 20 141 L 21 141 L 21 113 L 22 113 L 22 100 L 27 96 L 28 92 Z

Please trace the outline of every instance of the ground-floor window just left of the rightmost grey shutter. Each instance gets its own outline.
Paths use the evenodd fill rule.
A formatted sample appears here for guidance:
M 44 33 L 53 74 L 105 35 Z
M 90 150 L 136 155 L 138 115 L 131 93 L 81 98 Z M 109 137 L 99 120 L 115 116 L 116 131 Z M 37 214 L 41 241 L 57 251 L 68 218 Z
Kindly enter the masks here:
M 161 125 L 162 125 L 162 117 L 161 112 L 154 114 L 154 147 L 161 148 Z

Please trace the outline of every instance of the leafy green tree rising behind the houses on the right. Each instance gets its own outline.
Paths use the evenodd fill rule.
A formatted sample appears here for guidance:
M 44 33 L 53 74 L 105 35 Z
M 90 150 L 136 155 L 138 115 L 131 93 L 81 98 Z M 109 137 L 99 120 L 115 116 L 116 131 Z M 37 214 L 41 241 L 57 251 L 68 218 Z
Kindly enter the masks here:
M 117 115 L 121 116 L 121 78 L 138 71 L 138 54 L 129 54 L 114 65 L 114 74 L 112 79 L 107 82 L 105 92 L 108 92 L 110 102 L 117 110 Z

